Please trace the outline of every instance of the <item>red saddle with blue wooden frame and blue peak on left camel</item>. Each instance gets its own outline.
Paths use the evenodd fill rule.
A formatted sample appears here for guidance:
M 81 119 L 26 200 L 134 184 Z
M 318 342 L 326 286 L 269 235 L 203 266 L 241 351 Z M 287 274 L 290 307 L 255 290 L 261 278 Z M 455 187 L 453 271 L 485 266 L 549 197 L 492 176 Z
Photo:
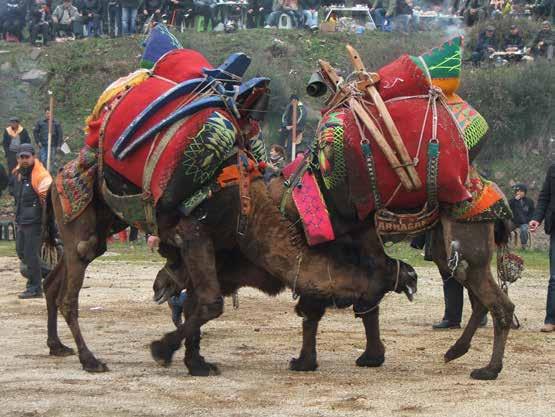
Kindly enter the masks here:
M 214 68 L 158 25 L 141 64 L 104 91 L 87 120 L 85 147 L 58 178 L 66 221 L 90 203 L 98 177 L 106 203 L 152 232 L 156 210 L 190 211 L 223 184 L 217 174 L 238 152 L 242 168 L 227 170 L 224 181 L 248 177 L 257 172 L 253 161 L 266 158 L 258 119 L 269 79 L 242 81 L 248 56 L 232 54 Z

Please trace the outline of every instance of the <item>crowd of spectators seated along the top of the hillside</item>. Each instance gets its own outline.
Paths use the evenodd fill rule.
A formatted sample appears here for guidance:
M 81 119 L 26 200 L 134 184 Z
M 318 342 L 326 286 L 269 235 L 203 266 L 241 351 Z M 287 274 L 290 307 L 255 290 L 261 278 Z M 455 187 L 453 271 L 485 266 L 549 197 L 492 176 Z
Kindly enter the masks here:
M 208 31 L 276 27 L 285 17 L 290 27 L 315 30 L 324 17 L 339 18 L 328 16 L 330 7 L 361 3 L 383 31 L 409 32 L 427 11 L 466 26 L 508 14 L 552 22 L 555 14 L 555 0 L 0 0 L 0 29 L 5 40 L 23 41 L 28 33 L 31 43 L 45 45 L 55 38 L 125 36 L 153 21 Z

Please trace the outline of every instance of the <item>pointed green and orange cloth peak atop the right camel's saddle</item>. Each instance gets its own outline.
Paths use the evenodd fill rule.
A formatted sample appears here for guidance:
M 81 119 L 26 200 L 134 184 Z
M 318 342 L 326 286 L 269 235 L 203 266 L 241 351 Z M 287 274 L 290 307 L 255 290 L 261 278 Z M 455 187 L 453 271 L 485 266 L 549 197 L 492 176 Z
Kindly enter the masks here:
M 429 76 L 432 85 L 441 88 L 448 100 L 460 84 L 462 40 L 462 36 L 457 36 L 439 48 L 420 56 L 411 56 L 413 62 Z

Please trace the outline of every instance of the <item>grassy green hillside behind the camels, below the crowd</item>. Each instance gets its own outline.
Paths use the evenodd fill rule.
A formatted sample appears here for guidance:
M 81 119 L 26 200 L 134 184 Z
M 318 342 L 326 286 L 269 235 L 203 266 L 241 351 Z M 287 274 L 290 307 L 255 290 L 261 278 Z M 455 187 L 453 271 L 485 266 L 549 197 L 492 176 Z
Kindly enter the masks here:
M 497 23 L 507 25 L 506 22 Z M 535 28 L 528 25 L 526 33 Z M 472 45 L 476 29 L 467 37 Z M 177 35 L 185 47 L 201 51 L 214 64 L 231 52 L 253 57 L 248 76 L 272 78 L 272 100 L 265 126 L 268 141 L 275 138 L 276 121 L 287 97 L 304 95 L 305 84 L 318 59 L 329 60 L 344 71 L 350 69 L 344 52 L 346 43 L 361 53 L 369 69 L 395 59 L 402 53 L 419 54 L 439 45 L 438 33 L 411 36 L 370 32 L 352 34 L 309 34 L 299 31 L 249 30 L 234 34 L 187 32 Z M 57 100 L 56 117 L 77 149 L 82 142 L 83 120 L 102 90 L 114 79 L 137 68 L 142 38 L 90 39 L 49 46 L 33 57 L 27 45 L 0 45 L 0 120 L 20 115 L 31 126 L 47 102 L 47 89 Z M 468 56 L 468 51 L 466 51 Z M 35 58 L 35 59 L 34 59 Z M 18 77 L 33 68 L 47 71 L 41 85 L 29 85 Z M 491 133 L 482 156 L 482 168 L 507 186 L 511 180 L 530 182 L 541 176 L 547 162 L 549 138 L 554 134 L 553 97 L 555 71 L 548 63 L 475 70 L 465 66 L 461 95 L 488 120 Z M 316 123 L 321 102 L 304 98 Z

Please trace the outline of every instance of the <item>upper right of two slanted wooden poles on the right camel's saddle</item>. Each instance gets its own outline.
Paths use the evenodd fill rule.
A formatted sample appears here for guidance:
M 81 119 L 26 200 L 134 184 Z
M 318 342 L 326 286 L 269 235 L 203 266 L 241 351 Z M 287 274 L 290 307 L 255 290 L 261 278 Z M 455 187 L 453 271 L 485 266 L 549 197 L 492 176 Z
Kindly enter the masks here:
M 387 110 L 387 107 L 385 106 L 382 96 L 380 96 L 379 91 L 374 86 L 374 83 L 378 79 L 377 74 L 374 77 L 372 77 L 372 75 L 374 74 L 369 75 L 366 72 L 366 68 L 364 67 L 364 63 L 360 59 L 358 52 L 351 45 L 347 45 L 347 52 L 349 53 L 349 56 L 351 58 L 351 62 L 353 64 L 353 67 L 355 68 L 355 71 L 358 72 L 359 80 L 362 82 L 365 82 L 364 89 L 374 101 L 374 104 L 376 105 L 376 108 L 378 109 L 378 112 L 380 113 L 385 123 L 385 127 L 387 128 L 389 134 L 391 135 L 393 144 L 395 145 L 395 148 L 399 153 L 399 158 L 401 159 L 404 165 L 404 168 L 407 170 L 408 176 L 411 181 L 411 185 L 409 188 L 407 187 L 405 188 L 407 189 L 407 191 L 419 190 L 420 188 L 422 188 L 422 181 L 420 181 L 420 177 L 418 176 L 418 173 L 414 168 L 414 162 L 411 159 L 407 151 L 407 148 L 405 147 L 405 143 L 403 142 L 403 138 L 401 138 L 401 134 L 399 133 L 399 130 L 395 125 L 395 122 L 393 121 L 393 119 L 391 118 L 391 115 L 389 114 L 389 110 Z

